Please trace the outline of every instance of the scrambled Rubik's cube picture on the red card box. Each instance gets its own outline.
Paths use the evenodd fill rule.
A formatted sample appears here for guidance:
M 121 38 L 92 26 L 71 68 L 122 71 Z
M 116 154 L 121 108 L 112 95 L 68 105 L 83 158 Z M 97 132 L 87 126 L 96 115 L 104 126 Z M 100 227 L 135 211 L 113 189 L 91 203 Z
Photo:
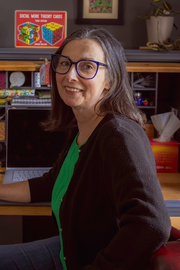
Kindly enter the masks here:
M 39 25 L 35 25 L 31 22 L 26 22 L 18 25 L 18 30 L 20 32 L 18 39 L 26 44 L 31 45 L 40 39 L 40 35 L 38 33 L 40 30 Z

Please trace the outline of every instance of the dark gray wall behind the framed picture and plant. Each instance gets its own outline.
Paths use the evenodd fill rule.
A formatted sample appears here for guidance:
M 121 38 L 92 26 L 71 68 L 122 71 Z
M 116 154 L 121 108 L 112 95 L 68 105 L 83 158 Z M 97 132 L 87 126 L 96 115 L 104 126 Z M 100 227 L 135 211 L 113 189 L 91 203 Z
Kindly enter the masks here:
M 180 10 L 180 0 L 169 0 L 176 10 Z M 14 47 L 14 11 L 15 10 L 66 10 L 67 34 L 78 26 L 77 0 L 0 0 L 0 47 Z M 125 0 L 125 24 L 102 25 L 109 30 L 125 49 L 138 49 L 147 42 L 146 24 L 144 19 L 137 15 L 148 13 L 150 0 Z M 174 29 L 172 39 L 176 40 L 180 35 L 180 15 L 175 17 L 178 30 Z

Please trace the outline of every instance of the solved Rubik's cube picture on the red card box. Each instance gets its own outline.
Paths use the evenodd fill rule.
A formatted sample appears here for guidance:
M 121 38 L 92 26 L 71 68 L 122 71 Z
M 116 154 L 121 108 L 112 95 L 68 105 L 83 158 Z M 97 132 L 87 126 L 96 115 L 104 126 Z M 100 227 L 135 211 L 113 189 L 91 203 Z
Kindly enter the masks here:
M 50 22 L 42 25 L 43 39 L 50 45 L 54 45 L 62 40 L 64 26 L 58 23 Z

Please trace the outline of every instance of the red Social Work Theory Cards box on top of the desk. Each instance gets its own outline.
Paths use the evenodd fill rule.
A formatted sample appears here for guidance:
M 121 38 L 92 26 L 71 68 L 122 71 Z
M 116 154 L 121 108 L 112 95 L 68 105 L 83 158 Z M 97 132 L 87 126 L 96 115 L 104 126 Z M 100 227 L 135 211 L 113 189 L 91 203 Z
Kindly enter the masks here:
M 67 34 L 67 11 L 15 10 L 15 47 L 56 47 Z

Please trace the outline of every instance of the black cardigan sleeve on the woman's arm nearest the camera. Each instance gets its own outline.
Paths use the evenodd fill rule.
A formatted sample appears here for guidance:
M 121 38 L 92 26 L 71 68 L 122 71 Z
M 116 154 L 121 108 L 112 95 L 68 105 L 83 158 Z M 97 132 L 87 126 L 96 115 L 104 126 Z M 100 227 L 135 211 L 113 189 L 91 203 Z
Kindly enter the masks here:
M 103 178 L 119 229 L 84 270 L 145 270 L 151 254 L 169 238 L 171 222 L 154 156 L 141 130 L 133 125 L 104 136 Z

